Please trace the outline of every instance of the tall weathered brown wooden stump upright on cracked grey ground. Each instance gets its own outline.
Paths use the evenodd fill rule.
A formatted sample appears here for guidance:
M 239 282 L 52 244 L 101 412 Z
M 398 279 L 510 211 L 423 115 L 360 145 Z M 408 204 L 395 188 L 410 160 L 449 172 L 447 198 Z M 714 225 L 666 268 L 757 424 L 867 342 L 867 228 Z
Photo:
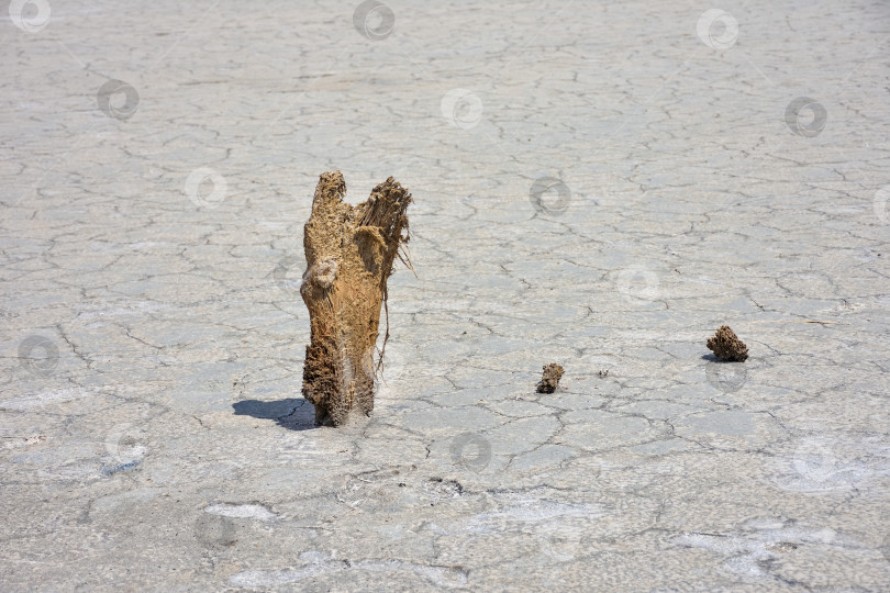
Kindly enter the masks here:
M 375 365 L 380 309 L 392 262 L 409 239 L 411 203 L 411 194 L 391 177 L 356 206 L 343 201 L 345 193 L 340 171 L 321 175 L 303 232 L 307 270 L 300 287 L 311 324 L 303 396 L 315 406 L 316 424 L 334 426 L 353 409 L 365 415 L 374 410 L 383 356 L 380 350 Z M 388 337 L 387 328 L 383 348 Z

